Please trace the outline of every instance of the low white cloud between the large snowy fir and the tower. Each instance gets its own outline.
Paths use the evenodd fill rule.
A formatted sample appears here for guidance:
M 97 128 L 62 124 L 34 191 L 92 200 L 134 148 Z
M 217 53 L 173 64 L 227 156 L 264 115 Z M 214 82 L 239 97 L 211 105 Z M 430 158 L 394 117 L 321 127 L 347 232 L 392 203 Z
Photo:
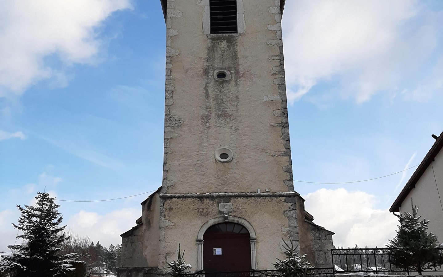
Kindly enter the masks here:
M 94 243 L 99 241 L 108 247 L 121 244 L 120 234 L 130 230 L 139 217 L 140 210 L 132 208 L 114 210 L 105 215 L 80 211 L 69 219 L 67 226 L 73 234 L 89 237 Z

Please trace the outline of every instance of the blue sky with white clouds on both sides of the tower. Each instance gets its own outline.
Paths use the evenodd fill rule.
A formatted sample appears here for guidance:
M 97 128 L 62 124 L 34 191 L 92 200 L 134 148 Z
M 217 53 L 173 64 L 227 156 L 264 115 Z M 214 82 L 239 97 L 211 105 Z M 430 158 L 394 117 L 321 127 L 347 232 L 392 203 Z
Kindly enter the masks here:
M 385 245 L 389 207 L 443 130 L 443 2 L 288 0 L 295 191 L 336 246 Z M 0 251 L 17 204 L 153 191 L 163 165 L 159 1 L 0 0 Z M 72 233 L 119 244 L 149 195 L 63 202 Z

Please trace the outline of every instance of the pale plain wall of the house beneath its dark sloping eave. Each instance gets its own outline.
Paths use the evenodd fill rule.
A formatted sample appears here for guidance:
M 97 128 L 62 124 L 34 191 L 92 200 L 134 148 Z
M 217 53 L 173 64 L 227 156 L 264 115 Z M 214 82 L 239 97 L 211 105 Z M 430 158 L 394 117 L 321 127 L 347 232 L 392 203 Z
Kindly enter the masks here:
M 439 242 L 443 242 L 443 211 L 440 198 L 443 198 L 443 151 L 440 151 L 432 166 L 426 169 L 424 174 L 416 183 L 416 187 L 409 192 L 409 195 L 401 203 L 400 212 L 411 212 L 411 199 L 414 206 L 419 207 L 418 213 L 423 218 L 430 220 L 428 231 L 435 234 L 439 238 Z M 434 172 L 432 172 L 434 167 Z M 434 179 L 435 174 L 435 179 Z M 435 184 L 435 181 L 438 186 Z M 443 201 L 443 199 L 442 199 Z

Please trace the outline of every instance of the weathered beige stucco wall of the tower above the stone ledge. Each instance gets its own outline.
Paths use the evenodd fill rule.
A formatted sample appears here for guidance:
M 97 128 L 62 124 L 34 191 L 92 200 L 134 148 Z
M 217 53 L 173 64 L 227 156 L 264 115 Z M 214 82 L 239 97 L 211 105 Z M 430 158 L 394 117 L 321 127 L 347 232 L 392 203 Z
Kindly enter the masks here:
M 229 35 L 204 34 L 208 0 L 167 2 L 163 193 L 293 190 L 280 3 L 240 2 L 245 32 Z

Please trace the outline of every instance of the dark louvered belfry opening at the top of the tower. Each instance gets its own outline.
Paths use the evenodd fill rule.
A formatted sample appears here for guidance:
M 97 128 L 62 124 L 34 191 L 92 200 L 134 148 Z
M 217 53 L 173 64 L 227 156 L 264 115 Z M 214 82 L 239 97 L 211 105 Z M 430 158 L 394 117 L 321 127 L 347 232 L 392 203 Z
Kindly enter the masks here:
M 237 0 L 209 0 L 211 34 L 237 33 Z

